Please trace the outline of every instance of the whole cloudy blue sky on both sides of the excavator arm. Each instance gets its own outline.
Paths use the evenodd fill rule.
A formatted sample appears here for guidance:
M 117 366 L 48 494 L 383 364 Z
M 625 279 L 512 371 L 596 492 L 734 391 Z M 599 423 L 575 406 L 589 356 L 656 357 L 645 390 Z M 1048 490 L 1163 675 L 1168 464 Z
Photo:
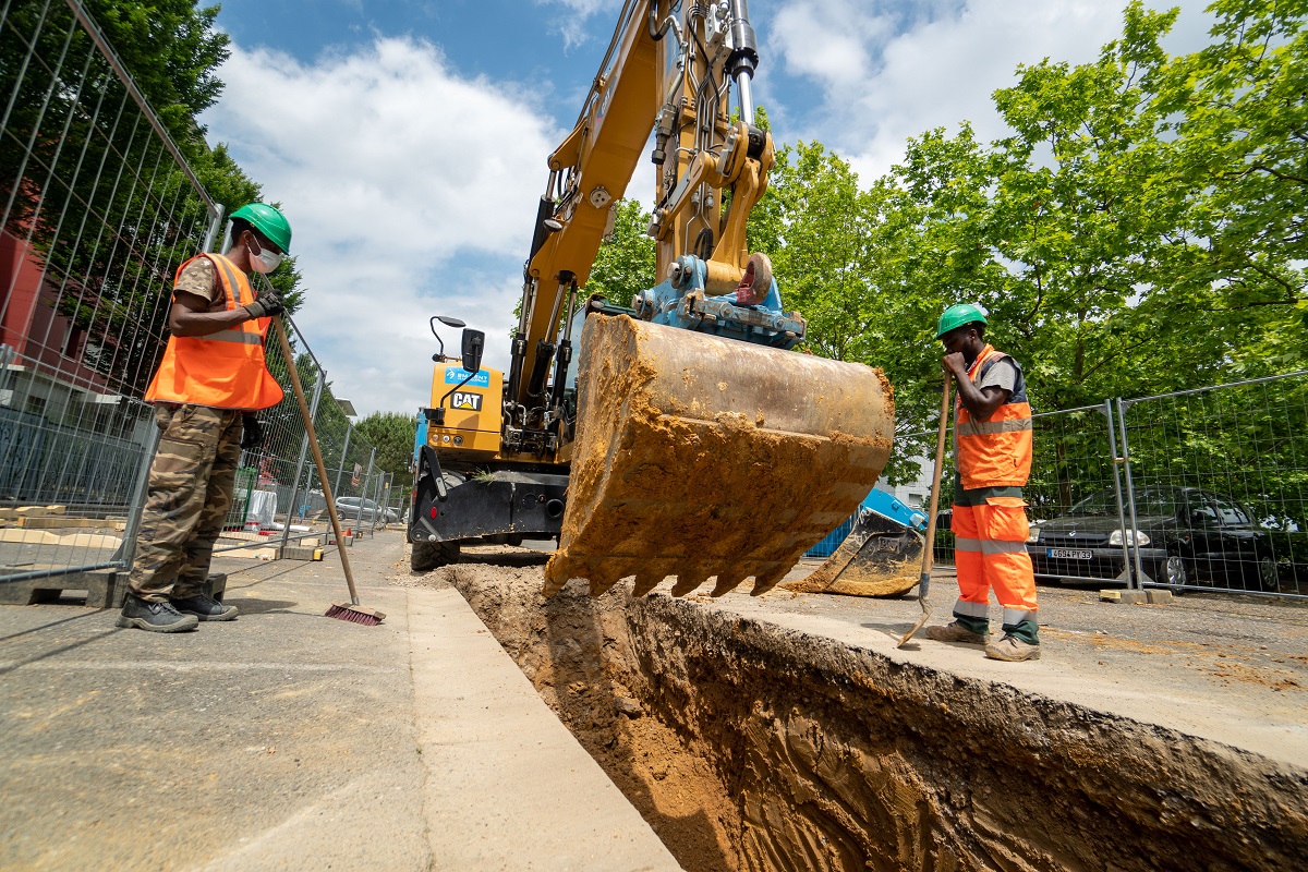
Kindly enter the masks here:
M 820 140 L 865 182 L 904 141 L 969 120 L 1018 63 L 1092 60 L 1125 0 L 753 0 L 755 99 L 780 143 Z M 1205 42 L 1177 4 L 1173 52 Z M 280 201 L 297 323 L 368 414 L 428 403 L 433 314 L 488 332 L 508 365 L 545 157 L 572 127 L 620 0 L 222 0 L 226 89 L 201 119 Z M 628 196 L 650 200 L 645 175 Z M 785 293 L 785 289 L 782 289 Z M 447 337 L 449 341 L 450 337 Z

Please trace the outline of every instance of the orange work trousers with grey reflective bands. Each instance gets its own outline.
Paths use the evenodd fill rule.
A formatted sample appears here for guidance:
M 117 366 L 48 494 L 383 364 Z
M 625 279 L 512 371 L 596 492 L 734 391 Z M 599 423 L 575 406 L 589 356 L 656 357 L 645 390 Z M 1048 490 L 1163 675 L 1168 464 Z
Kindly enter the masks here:
M 1027 554 L 1031 527 L 1020 497 L 986 497 L 981 506 L 955 505 L 950 527 L 960 605 L 972 604 L 977 617 L 985 617 L 994 588 L 1006 625 L 1016 625 L 1024 617 L 1020 613 L 1036 611 L 1036 577 Z

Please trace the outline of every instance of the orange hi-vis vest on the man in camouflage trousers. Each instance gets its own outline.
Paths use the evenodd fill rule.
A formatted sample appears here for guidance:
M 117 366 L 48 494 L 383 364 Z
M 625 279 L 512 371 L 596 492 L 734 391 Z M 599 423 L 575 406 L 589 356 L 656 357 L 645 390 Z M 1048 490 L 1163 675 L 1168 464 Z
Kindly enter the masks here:
M 228 311 L 254 302 L 250 280 L 222 255 L 201 254 L 218 275 Z M 196 258 L 178 267 L 181 277 Z M 174 278 L 175 281 L 175 278 Z M 284 396 L 264 363 L 263 341 L 271 318 L 242 322 L 208 336 L 170 336 L 160 369 L 145 399 L 150 403 L 190 403 L 216 409 L 267 409 Z

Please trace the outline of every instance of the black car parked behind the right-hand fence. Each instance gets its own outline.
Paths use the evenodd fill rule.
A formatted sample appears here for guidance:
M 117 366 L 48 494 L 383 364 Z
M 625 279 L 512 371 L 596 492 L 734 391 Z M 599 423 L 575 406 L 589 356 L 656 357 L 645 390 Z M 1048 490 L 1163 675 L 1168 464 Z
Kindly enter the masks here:
M 1135 492 L 1135 520 L 1144 573 L 1160 584 L 1277 590 L 1271 537 L 1231 497 L 1198 488 L 1143 488 Z M 1066 515 L 1033 526 L 1027 553 L 1036 575 L 1118 578 L 1124 536 L 1133 544 L 1118 522 L 1117 498 L 1103 490 Z

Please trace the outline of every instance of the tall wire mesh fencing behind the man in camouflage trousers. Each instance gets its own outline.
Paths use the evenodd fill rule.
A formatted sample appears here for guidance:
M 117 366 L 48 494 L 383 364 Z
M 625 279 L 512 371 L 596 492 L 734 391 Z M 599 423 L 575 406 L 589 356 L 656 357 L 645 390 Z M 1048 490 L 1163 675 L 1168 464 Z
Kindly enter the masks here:
M 173 277 L 211 248 L 221 216 L 77 0 L 3 4 L 0 580 L 129 563 L 158 437 L 141 397 L 167 341 Z M 292 343 L 307 390 L 326 384 L 298 331 Z M 288 396 L 259 413 L 267 431 L 242 455 L 220 550 L 326 527 L 275 341 L 268 366 Z M 315 422 L 341 495 L 368 498 L 373 446 L 357 433 L 345 444 L 351 425 L 330 390 Z

